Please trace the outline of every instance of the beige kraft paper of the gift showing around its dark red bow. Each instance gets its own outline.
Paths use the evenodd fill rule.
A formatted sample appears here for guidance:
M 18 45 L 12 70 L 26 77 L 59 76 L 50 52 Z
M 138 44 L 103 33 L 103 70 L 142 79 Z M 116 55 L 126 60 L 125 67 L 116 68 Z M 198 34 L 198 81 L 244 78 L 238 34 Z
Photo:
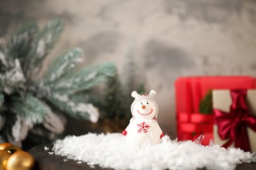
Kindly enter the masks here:
M 245 97 L 245 103 L 248 109 L 249 116 L 253 118 L 253 116 L 256 116 L 256 90 L 245 90 L 246 97 Z M 213 90 L 213 110 L 221 110 L 225 114 L 230 114 L 231 105 L 233 105 L 232 97 L 231 97 L 231 91 L 230 90 Z M 256 119 L 256 118 L 255 118 Z M 254 120 L 255 120 L 254 119 Z M 217 126 L 218 120 L 215 119 L 215 124 L 213 126 L 213 139 L 216 144 L 223 145 L 227 143 L 230 138 L 228 139 L 221 139 L 219 135 L 219 126 Z M 234 120 L 236 121 L 236 120 Z M 256 152 L 256 131 L 253 131 L 249 126 L 245 126 L 245 131 L 247 131 L 247 137 L 249 139 L 249 146 L 251 150 L 244 149 L 244 145 L 238 146 L 245 151 L 251 151 Z M 256 126 L 256 122 L 253 123 L 253 126 Z M 239 137 L 239 134 L 236 134 L 236 138 Z M 240 137 L 240 139 L 245 140 L 244 137 Z M 230 144 L 230 147 L 234 147 L 236 143 L 235 141 Z M 229 147 L 229 146 L 228 146 Z

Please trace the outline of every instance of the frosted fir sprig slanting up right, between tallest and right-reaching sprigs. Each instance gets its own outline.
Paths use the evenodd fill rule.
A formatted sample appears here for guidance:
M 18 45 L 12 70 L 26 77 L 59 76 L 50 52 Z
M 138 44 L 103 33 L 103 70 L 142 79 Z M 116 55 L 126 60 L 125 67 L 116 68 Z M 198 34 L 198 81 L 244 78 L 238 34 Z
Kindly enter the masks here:
M 81 61 L 82 52 L 81 48 L 75 48 L 60 54 L 49 65 L 49 69 L 47 69 L 47 73 L 45 73 L 42 80 L 45 83 L 52 83 L 70 73 L 77 63 Z

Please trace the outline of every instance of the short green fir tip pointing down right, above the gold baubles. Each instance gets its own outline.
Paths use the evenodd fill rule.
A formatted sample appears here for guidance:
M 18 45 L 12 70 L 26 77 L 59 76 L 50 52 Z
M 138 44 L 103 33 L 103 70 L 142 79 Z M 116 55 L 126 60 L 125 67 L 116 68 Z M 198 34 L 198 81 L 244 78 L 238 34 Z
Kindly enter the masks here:
M 24 97 L 11 97 L 11 110 L 19 114 L 30 125 L 42 123 L 47 114 L 45 105 L 31 93 L 26 93 Z

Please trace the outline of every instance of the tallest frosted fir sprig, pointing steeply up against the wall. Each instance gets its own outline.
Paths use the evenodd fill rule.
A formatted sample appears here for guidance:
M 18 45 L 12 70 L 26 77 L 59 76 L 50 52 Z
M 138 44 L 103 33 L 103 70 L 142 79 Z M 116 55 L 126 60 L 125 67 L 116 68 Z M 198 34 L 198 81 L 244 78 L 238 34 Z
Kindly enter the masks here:
M 51 52 L 54 44 L 58 41 L 64 27 L 63 20 L 51 20 L 32 41 L 32 50 L 28 57 L 30 60 L 24 66 L 26 76 L 32 78 L 41 69 L 42 61 Z

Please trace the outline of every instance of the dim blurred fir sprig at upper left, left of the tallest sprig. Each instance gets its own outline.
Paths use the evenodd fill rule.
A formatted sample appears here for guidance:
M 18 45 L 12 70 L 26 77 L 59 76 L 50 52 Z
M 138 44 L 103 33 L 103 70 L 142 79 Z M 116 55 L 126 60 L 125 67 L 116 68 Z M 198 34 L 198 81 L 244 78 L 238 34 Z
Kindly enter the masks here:
M 37 29 L 37 25 L 34 22 L 18 26 L 7 44 L 7 56 L 10 61 L 18 58 L 23 67 L 24 62 L 30 59 L 28 58 L 28 52 L 32 46 L 33 35 L 37 32 Z

